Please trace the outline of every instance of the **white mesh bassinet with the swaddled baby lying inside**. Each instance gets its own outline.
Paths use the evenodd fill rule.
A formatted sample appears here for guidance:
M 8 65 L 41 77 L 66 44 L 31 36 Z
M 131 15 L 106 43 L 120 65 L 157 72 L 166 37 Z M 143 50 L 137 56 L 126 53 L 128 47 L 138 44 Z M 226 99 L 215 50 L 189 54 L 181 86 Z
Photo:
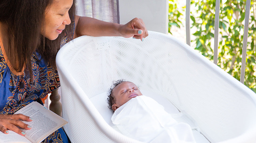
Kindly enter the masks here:
M 118 79 L 165 97 L 212 143 L 256 141 L 255 93 L 174 37 L 81 36 L 59 50 L 56 64 L 69 122 L 64 129 L 73 143 L 138 142 L 115 131 L 89 100 Z

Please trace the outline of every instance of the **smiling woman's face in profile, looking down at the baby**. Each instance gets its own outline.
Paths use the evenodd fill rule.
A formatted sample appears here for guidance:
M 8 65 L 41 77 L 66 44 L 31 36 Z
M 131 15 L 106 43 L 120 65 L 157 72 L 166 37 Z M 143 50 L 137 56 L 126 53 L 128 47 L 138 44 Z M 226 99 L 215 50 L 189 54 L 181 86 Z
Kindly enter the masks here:
M 45 10 L 45 25 L 41 34 L 50 40 L 56 39 L 66 25 L 71 23 L 69 9 L 73 0 L 53 0 Z

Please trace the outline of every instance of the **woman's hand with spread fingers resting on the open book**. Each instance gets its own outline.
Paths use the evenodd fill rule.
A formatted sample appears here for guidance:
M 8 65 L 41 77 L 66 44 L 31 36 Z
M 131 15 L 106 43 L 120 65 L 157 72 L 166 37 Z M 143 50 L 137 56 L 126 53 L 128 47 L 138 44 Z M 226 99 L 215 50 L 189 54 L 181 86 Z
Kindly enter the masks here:
M 23 123 L 21 120 L 24 121 L 32 121 L 29 116 L 25 116 L 22 114 L 13 114 L 13 115 L 0 115 L 0 131 L 5 134 L 8 134 L 8 130 L 12 130 L 22 136 L 25 135 L 17 126 L 24 128 L 26 130 L 31 129 L 31 126 L 28 124 Z

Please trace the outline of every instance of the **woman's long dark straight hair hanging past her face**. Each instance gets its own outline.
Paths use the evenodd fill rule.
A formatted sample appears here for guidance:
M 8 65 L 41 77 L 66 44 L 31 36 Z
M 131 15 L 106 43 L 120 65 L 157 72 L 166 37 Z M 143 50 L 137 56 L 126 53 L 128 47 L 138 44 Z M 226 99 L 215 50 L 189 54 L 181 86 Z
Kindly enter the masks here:
M 18 66 L 13 67 L 21 71 L 24 64 L 32 75 L 31 56 L 38 51 L 42 58 L 56 67 L 55 58 L 59 50 L 61 38 L 72 32 L 69 24 L 55 40 L 49 40 L 41 35 L 44 24 L 45 10 L 54 0 L 0 0 L 0 21 L 7 23 L 10 58 L 18 58 Z M 71 23 L 74 23 L 75 1 L 69 10 Z M 14 38 L 12 38 L 14 36 Z M 73 35 L 66 35 L 73 36 Z M 14 47 L 10 47 L 14 43 Z

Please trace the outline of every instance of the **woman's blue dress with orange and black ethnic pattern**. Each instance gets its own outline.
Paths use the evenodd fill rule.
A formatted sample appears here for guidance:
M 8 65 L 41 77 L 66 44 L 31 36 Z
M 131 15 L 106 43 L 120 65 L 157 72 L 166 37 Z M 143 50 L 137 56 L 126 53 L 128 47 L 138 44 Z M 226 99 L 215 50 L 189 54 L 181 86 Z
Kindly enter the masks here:
M 74 35 L 75 24 L 72 24 Z M 72 40 L 72 37 L 64 36 L 60 47 Z M 49 92 L 60 86 L 58 71 L 49 63 L 37 56 L 32 55 L 32 70 L 36 82 L 31 83 L 29 72 L 24 70 L 16 72 L 11 66 L 0 38 L 0 114 L 13 114 L 27 104 L 38 101 L 48 95 Z M 47 137 L 43 143 L 66 143 L 67 136 L 62 128 Z

